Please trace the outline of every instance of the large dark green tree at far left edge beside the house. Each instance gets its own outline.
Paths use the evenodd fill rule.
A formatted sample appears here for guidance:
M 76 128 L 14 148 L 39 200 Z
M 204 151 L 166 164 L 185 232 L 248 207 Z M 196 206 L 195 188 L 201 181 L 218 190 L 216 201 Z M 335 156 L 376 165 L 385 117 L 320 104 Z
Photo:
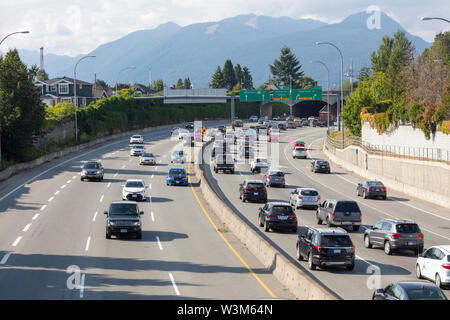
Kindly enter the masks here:
M 17 50 L 0 57 L 1 147 L 5 158 L 27 160 L 44 124 L 45 105 L 34 85 L 38 68 L 20 61 Z

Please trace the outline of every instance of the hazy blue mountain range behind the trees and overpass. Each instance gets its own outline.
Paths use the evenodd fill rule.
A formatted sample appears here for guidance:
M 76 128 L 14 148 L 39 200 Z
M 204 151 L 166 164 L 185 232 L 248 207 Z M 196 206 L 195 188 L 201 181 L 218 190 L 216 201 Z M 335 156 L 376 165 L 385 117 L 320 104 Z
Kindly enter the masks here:
M 217 66 L 225 60 L 247 66 L 254 86 L 267 81 L 269 65 L 280 56 L 283 46 L 295 53 L 306 76 L 318 80 L 326 88 L 326 73 L 321 65 L 312 64 L 320 60 L 330 70 L 330 86 L 339 83 L 340 59 L 331 46 L 317 46 L 318 41 L 329 41 L 337 45 L 344 57 L 344 68 L 349 69 L 353 61 L 354 70 L 370 66 L 370 55 L 378 49 L 384 35 L 393 36 L 398 30 L 405 31 L 420 54 L 431 44 L 409 34 L 385 13 L 381 13 L 381 28 L 369 29 L 366 12 L 355 13 L 339 23 L 327 24 L 313 19 L 292 19 L 239 15 L 217 22 L 195 23 L 181 27 L 168 22 L 152 30 L 130 33 L 115 41 L 98 46 L 77 67 L 77 78 L 93 82 L 105 80 L 114 85 L 119 71 L 128 66 L 136 69 L 120 74 L 119 83 L 149 82 L 163 79 L 165 84 L 175 84 L 178 78 L 189 77 L 195 88 L 208 87 Z M 39 50 L 19 50 L 21 59 L 31 65 L 39 65 Z M 76 61 L 82 57 L 45 55 L 45 70 L 51 78 L 73 76 Z M 357 73 L 355 73 L 357 76 Z

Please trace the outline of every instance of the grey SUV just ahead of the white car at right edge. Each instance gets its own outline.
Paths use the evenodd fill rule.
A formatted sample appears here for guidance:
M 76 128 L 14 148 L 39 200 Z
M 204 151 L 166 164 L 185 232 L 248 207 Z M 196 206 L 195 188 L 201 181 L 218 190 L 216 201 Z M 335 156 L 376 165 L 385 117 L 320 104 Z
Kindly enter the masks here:
M 387 255 L 398 250 L 413 250 L 415 255 L 424 247 L 424 235 L 411 220 L 383 219 L 364 231 L 364 245 L 384 248 Z

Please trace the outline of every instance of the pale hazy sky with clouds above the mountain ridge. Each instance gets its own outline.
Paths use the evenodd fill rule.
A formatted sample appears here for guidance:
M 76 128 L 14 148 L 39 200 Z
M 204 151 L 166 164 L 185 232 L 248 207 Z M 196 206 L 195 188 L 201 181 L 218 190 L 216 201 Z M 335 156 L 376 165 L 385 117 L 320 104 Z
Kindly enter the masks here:
M 0 0 L 0 39 L 14 31 L 30 31 L 8 38 L 0 50 L 44 46 L 46 53 L 74 56 L 168 21 L 186 26 L 254 13 L 336 23 L 373 5 L 429 42 L 450 29 L 444 21 L 420 20 L 423 16 L 450 19 L 446 0 Z

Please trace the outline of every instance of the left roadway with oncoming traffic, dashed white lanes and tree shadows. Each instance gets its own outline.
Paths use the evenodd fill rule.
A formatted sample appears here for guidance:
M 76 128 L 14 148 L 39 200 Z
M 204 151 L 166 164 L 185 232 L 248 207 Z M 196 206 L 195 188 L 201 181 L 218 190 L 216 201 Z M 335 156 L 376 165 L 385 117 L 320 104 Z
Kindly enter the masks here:
M 126 138 L 0 183 L 0 299 L 293 299 L 208 212 L 216 231 L 196 188 L 166 186 L 171 167 L 190 169 L 170 163 L 170 130 L 144 138 L 156 166 L 130 157 Z M 80 181 L 91 159 L 102 182 Z M 103 212 L 133 178 L 149 186 L 142 239 L 107 240 Z

